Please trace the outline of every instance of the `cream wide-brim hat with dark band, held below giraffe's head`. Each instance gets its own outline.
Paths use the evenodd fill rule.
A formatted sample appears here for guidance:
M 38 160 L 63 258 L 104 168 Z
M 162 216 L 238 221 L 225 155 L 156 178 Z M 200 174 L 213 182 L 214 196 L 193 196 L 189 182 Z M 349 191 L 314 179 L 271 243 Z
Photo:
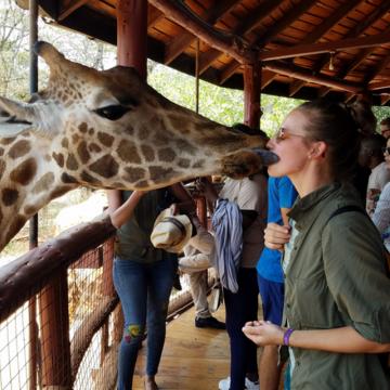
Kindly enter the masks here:
M 180 253 L 192 236 L 192 223 L 185 214 L 172 214 L 172 210 L 162 210 L 154 223 L 151 242 L 154 247 L 172 253 Z

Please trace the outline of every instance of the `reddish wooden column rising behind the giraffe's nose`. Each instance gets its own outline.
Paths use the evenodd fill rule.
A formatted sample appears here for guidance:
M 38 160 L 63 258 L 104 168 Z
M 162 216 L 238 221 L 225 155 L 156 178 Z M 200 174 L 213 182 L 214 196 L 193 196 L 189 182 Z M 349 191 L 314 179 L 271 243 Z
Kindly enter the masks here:
M 244 122 L 251 128 L 260 127 L 261 65 L 244 67 Z

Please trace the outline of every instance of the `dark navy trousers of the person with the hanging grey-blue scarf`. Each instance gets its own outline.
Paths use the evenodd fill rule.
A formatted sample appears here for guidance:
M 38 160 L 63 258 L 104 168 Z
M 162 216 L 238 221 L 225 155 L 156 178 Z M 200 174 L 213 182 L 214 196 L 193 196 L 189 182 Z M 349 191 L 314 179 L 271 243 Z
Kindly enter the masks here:
M 226 330 L 231 344 L 230 390 L 245 389 L 246 374 L 257 374 L 257 346 L 243 333 L 248 321 L 258 317 L 258 283 L 256 269 L 240 268 L 237 275 L 238 291 L 223 289 Z

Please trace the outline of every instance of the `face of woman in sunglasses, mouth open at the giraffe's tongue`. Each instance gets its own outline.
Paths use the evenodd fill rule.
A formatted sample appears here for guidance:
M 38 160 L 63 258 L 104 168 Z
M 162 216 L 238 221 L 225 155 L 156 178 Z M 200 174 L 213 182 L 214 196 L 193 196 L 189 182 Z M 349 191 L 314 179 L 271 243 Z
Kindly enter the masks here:
M 268 142 L 266 146 L 280 160 L 269 166 L 272 177 L 294 176 L 304 169 L 309 160 L 310 143 L 304 130 L 308 119 L 302 110 L 294 109 L 285 118 L 281 129 Z

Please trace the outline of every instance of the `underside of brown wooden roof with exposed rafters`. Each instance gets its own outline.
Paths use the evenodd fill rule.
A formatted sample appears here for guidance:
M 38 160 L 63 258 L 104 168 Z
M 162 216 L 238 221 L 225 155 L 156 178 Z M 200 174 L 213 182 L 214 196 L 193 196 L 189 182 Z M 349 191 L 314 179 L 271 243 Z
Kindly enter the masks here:
M 116 43 L 117 0 L 38 0 L 56 24 Z M 389 0 L 150 0 L 148 57 L 243 89 L 262 64 L 263 93 L 390 101 Z M 196 35 L 196 36 L 195 36 Z

